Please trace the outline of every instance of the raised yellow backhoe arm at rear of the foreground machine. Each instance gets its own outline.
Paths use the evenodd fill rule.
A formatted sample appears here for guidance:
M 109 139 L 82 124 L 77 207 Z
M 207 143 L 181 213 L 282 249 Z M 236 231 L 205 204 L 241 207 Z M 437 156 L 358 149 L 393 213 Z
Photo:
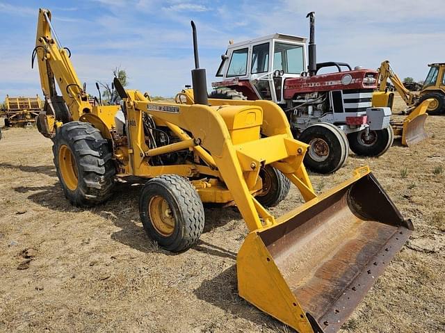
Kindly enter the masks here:
M 51 25 L 51 12 L 40 8 L 33 60 L 38 62 L 45 101 L 54 111 L 54 106 L 60 101 L 60 97 L 57 99 L 57 82 L 72 120 L 79 120 L 83 113 L 91 111 L 91 105 L 88 102 L 88 94 L 74 71 L 70 56 L 70 51 L 62 47 Z

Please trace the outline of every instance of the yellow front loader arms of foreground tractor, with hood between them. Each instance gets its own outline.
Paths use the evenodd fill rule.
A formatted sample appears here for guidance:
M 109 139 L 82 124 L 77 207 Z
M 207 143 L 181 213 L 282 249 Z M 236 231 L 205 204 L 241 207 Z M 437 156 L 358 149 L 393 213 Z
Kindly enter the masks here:
M 150 102 L 137 90 L 127 90 L 126 95 L 124 101 L 131 145 L 129 161 L 133 174 L 146 177 L 154 170 L 146 163 L 147 157 L 155 152 L 148 149 L 143 140 L 141 118 L 145 112 L 156 122 L 192 133 L 192 138 L 183 136 L 181 140 L 186 142 L 184 147 L 197 150 L 203 159 L 206 159 L 205 152 L 209 152 L 211 163 L 214 163 L 232 193 L 251 232 L 276 224 L 275 218 L 251 194 L 262 166 L 271 164 L 281 170 L 298 187 L 306 201 L 316 197 L 302 163 L 308 145 L 293 139 L 289 123 L 276 104 L 250 101 L 245 106 L 226 104 L 211 107 Z M 250 129 L 238 129 L 243 120 L 261 120 L 261 133 L 266 137 L 259 138 L 259 131 L 255 136 Z M 191 143 L 191 139 L 194 143 Z M 172 149 L 173 145 L 177 144 L 171 144 Z M 163 147 L 165 149 L 168 147 Z

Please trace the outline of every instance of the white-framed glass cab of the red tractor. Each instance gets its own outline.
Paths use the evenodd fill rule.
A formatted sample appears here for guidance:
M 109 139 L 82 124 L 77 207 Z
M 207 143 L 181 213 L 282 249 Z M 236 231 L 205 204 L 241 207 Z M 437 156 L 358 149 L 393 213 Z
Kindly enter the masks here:
M 216 76 L 225 81 L 212 83 L 213 88 L 235 84 L 248 99 L 284 104 L 284 80 L 307 74 L 306 38 L 294 35 L 275 33 L 229 44 L 221 58 Z

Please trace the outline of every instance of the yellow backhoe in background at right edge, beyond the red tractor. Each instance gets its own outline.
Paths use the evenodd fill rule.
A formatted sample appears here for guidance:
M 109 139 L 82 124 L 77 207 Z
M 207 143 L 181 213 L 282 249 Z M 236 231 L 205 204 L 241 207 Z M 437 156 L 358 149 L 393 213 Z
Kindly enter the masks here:
M 414 145 L 428 138 L 424 127 L 428 113 L 432 115 L 442 113 L 445 107 L 445 86 L 442 81 L 445 64 L 429 66 L 431 67 L 430 74 L 428 74 L 420 93 L 414 93 L 405 88 L 400 77 L 389 65 L 388 60 L 383 61 L 378 68 L 379 90 L 373 92 L 373 106 L 393 108 L 394 92 L 387 87 L 388 80 L 390 80 L 398 95 L 401 95 L 407 105 L 403 111 L 407 117 L 402 122 L 391 121 L 394 135 L 401 136 L 402 145 L 405 146 Z M 426 113 L 427 111 L 428 113 Z

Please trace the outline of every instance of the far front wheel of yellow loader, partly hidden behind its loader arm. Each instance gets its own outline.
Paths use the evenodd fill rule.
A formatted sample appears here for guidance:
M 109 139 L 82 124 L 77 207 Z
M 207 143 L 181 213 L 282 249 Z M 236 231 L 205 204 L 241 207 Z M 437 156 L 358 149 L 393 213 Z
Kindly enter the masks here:
M 258 202 L 265 207 L 273 207 L 280 204 L 289 193 L 291 181 L 270 165 L 259 171 L 259 177 L 263 181 L 261 193 L 256 196 Z

